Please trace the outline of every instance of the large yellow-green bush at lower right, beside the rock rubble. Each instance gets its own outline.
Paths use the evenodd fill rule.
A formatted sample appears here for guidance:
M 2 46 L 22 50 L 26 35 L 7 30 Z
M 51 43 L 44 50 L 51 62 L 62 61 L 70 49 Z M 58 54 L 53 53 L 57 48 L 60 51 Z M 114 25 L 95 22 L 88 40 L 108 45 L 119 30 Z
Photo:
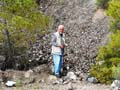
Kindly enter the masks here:
M 99 49 L 96 64 L 90 69 L 90 74 L 100 83 L 110 84 L 114 79 L 120 79 L 120 31 L 111 34 L 108 45 Z

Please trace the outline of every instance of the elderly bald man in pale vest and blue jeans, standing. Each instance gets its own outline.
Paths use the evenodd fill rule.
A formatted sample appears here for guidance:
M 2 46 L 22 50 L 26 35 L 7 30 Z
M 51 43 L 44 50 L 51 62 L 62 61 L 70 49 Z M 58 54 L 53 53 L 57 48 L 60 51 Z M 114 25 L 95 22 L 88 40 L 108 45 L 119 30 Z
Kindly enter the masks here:
M 59 25 L 57 32 L 52 35 L 51 44 L 54 62 L 54 74 L 59 77 L 60 70 L 62 68 L 64 47 L 66 46 L 63 25 Z

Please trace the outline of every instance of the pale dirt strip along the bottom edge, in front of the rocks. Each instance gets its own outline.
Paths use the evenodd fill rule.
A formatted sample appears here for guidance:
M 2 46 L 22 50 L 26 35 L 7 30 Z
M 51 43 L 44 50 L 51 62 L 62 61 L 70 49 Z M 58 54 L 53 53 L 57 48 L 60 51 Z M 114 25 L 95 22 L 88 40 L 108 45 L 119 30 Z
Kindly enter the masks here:
M 0 90 L 110 90 L 110 86 L 86 82 L 69 83 L 65 85 L 33 83 L 22 87 L 12 88 L 2 86 Z

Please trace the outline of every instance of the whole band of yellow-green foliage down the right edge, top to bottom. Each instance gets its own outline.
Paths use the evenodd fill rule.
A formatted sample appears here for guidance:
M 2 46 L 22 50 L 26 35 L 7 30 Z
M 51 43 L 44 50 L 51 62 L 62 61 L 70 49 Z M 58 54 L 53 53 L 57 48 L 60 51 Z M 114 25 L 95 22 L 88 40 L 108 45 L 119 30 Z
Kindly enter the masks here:
M 109 84 L 114 79 L 120 79 L 120 1 L 112 0 L 106 13 L 111 19 L 111 40 L 99 49 L 90 73 L 99 82 Z

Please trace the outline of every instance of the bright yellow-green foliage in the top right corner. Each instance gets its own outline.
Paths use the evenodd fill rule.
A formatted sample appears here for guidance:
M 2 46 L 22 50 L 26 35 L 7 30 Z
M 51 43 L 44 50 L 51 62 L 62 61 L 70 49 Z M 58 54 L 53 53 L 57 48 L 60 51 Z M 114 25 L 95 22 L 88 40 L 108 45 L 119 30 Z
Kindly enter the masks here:
M 111 19 L 111 28 L 112 32 L 116 32 L 120 30 L 120 1 L 112 0 L 109 3 L 109 8 L 106 11 L 107 15 L 110 16 Z

